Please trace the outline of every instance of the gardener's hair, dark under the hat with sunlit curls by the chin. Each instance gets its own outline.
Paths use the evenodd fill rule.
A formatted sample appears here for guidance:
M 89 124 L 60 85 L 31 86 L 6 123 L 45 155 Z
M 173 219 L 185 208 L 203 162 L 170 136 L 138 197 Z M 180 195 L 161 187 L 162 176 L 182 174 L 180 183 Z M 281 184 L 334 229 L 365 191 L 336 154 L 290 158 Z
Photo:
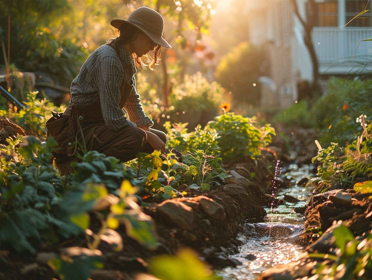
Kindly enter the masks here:
M 138 31 L 142 32 L 140 29 L 132 25 L 122 24 L 120 29 L 116 32 L 116 38 L 107 40 L 106 44 L 111 45 L 116 51 L 118 51 L 118 45 L 134 41 L 134 36 Z M 153 49 L 154 53 L 152 56 L 150 55 L 150 52 L 142 55 L 142 57 L 138 57 L 137 54 L 134 53 L 132 54 L 133 62 L 138 68 L 154 70 L 153 67 L 160 64 L 160 49 L 161 46 L 156 45 Z

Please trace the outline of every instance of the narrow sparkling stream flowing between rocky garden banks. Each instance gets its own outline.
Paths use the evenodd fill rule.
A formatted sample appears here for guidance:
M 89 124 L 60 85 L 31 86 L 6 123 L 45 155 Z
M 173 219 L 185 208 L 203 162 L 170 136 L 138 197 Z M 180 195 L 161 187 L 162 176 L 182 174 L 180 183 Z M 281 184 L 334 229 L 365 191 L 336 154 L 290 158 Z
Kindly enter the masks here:
M 264 222 L 245 224 L 243 228 L 246 231 L 238 236 L 244 242 L 239 247 L 240 253 L 230 256 L 243 264 L 217 271 L 218 276 L 222 276 L 224 280 L 254 280 L 269 267 L 298 259 L 298 256 L 304 252 L 304 248 L 292 244 L 290 238 L 302 231 L 305 219 L 295 213 L 294 208 L 307 204 L 312 189 L 305 189 L 297 183 L 302 178 L 311 178 L 312 168 L 312 165 L 298 167 L 291 164 L 283 174 L 278 174 L 279 178 L 287 177 L 292 186 L 280 190 L 276 198 L 283 199 L 286 194 L 299 199 L 299 202 L 285 202 L 274 209 L 266 208 L 267 217 Z

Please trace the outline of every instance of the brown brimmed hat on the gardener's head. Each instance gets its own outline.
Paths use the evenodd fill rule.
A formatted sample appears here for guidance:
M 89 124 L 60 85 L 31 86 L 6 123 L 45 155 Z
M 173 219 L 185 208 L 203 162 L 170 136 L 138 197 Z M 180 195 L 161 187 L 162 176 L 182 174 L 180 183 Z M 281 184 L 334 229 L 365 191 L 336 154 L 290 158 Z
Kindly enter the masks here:
M 160 13 L 148 7 L 140 7 L 132 12 L 127 20 L 114 19 L 111 25 L 117 29 L 124 23 L 133 25 L 144 32 L 155 44 L 170 49 L 171 46 L 163 38 L 164 19 Z

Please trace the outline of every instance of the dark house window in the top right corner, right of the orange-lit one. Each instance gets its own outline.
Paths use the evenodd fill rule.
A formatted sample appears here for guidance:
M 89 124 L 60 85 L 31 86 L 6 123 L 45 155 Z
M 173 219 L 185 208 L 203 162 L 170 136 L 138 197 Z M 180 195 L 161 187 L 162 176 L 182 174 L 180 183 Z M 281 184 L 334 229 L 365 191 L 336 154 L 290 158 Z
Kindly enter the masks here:
M 371 4 L 368 0 L 346 0 L 346 23 L 347 26 L 371 27 Z M 353 19 L 356 15 L 364 10 L 369 12 L 363 13 L 360 17 Z M 351 20 L 351 22 L 350 22 Z

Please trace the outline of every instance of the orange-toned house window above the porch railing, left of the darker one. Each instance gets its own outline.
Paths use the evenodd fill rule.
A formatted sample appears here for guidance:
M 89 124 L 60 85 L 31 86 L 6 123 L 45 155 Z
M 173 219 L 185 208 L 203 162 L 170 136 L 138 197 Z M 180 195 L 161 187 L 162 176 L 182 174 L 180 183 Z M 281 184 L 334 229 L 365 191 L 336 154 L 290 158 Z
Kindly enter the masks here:
M 315 26 L 337 26 L 337 0 L 317 3 L 315 12 Z

